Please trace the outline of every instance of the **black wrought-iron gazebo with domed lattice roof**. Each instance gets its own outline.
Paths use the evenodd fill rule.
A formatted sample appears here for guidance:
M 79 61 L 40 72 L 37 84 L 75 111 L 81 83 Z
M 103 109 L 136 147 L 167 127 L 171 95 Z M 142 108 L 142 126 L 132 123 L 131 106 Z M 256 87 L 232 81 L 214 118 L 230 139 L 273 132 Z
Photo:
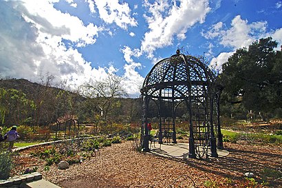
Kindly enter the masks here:
M 223 148 L 219 121 L 221 90 L 215 84 L 215 74 L 195 56 L 177 50 L 175 55 L 156 63 L 141 89 L 143 151 L 150 150 L 147 125 L 151 114 L 158 118 L 158 142 L 162 144 L 164 138 L 177 143 L 175 126 L 182 112 L 189 129 L 188 157 L 204 158 L 208 148 L 210 156 L 217 157 L 217 148 Z

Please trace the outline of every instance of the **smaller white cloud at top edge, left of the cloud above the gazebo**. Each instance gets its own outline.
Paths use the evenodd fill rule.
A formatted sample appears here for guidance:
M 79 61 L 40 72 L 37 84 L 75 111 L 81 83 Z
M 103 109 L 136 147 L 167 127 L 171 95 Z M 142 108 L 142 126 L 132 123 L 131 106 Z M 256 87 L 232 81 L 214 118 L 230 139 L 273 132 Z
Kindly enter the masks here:
M 94 0 L 99 10 L 100 18 L 106 23 L 116 23 L 127 30 L 128 25 L 137 26 L 137 21 L 131 17 L 128 3 L 118 3 L 118 0 Z

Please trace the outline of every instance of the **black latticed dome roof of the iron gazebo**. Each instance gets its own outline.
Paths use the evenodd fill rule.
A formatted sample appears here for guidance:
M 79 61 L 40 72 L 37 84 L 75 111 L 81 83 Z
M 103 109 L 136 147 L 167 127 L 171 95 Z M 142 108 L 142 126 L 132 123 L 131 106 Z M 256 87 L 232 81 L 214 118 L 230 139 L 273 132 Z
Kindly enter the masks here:
M 207 90 L 213 73 L 195 56 L 175 54 L 156 63 L 146 76 L 142 94 L 152 97 L 185 98 L 197 90 Z

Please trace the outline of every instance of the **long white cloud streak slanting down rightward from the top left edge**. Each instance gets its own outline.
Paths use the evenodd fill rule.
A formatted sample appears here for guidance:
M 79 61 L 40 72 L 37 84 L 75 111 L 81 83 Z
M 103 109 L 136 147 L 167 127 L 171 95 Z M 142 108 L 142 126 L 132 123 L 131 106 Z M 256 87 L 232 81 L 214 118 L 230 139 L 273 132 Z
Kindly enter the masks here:
M 78 17 L 56 10 L 52 3 L 47 1 L 25 1 L 23 5 L 28 10 L 23 12 L 23 17 L 33 23 L 40 32 L 61 36 L 78 46 L 95 43 L 95 36 L 101 30 L 93 23 L 84 25 Z

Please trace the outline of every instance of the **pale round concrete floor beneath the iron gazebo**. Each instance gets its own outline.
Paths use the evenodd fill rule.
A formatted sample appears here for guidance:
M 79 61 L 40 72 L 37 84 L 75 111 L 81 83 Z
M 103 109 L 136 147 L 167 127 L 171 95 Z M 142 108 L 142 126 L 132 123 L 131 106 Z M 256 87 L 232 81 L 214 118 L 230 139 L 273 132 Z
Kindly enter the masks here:
M 162 145 L 159 143 L 152 143 L 150 149 L 152 154 L 169 158 L 187 159 L 189 154 L 188 143 L 169 143 Z M 223 157 L 228 156 L 229 152 L 224 149 L 217 149 L 217 154 L 219 157 Z M 210 149 L 208 149 L 208 155 L 210 156 Z

